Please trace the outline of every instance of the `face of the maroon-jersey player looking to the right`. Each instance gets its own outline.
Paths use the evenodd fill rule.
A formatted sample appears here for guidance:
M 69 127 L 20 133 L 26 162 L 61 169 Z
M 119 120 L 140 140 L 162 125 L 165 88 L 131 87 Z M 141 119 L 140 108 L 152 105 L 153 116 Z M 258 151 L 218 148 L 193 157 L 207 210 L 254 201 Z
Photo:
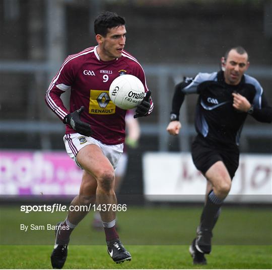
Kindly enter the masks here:
M 109 29 L 107 35 L 101 38 L 100 58 L 104 61 L 110 61 L 122 56 L 125 45 L 125 26 L 121 25 Z M 104 58 L 104 59 L 103 59 Z

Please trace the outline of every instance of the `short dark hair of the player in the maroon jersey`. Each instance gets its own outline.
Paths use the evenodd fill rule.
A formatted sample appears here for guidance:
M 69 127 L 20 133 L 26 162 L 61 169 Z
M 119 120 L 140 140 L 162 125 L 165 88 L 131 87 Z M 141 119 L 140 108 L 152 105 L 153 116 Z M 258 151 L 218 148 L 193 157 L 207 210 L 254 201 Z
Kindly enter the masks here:
M 125 25 L 123 17 L 118 16 L 114 12 L 104 11 L 96 17 L 94 22 L 94 31 L 96 35 L 99 34 L 105 37 L 109 29 L 120 25 Z

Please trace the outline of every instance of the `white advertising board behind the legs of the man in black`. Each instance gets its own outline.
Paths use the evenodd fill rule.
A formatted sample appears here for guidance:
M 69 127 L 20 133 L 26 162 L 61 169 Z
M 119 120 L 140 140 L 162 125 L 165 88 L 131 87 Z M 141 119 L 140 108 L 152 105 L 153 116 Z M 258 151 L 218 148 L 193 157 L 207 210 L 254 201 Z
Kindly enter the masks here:
M 272 156 L 240 155 L 226 202 L 272 203 Z M 143 156 L 144 195 L 150 201 L 205 200 L 206 178 L 190 153 L 148 152 Z

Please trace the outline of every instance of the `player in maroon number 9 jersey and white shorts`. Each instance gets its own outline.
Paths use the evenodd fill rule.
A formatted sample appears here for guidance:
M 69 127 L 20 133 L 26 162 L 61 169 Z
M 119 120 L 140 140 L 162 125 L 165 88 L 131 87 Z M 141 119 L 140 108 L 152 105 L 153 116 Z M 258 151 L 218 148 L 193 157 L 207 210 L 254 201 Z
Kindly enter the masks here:
M 80 192 L 71 205 L 116 205 L 114 168 L 123 152 L 126 111 L 109 99 L 111 82 L 122 74 L 137 76 L 144 84 L 146 96 L 134 117 L 149 115 L 153 110 L 151 92 L 146 85 L 140 63 L 124 51 L 125 21 L 115 13 L 103 12 L 95 22 L 97 46 L 68 56 L 46 92 L 49 108 L 66 124 L 63 138 L 67 153 L 84 170 Z M 71 91 L 70 110 L 60 95 Z M 62 268 L 67 256 L 70 235 L 87 212 L 69 211 L 58 225 L 69 230 L 57 230 L 51 254 L 53 268 Z M 108 253 L 116 263 L 130 260 L 115 229 L 115 212 L 100 212 Z

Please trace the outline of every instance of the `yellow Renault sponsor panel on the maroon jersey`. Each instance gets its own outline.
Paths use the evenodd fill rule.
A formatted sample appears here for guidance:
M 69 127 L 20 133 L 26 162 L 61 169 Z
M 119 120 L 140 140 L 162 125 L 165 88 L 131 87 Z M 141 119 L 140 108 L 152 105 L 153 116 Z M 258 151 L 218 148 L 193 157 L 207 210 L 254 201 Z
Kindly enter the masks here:
M 109 91 L 90 90 L 89 114 L 115 114 L 115 104 L 110 100 Z

